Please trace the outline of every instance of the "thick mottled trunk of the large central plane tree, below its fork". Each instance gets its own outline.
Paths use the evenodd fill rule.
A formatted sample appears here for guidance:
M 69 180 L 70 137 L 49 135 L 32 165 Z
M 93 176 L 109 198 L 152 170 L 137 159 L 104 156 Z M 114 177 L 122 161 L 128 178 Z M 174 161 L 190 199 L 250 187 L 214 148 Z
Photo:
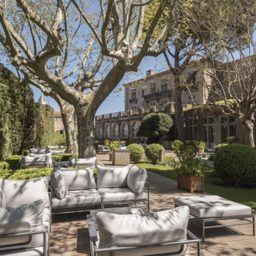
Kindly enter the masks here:
M 95 157 L 94 116 L 96 110 L 76 106 L 79 158 Z

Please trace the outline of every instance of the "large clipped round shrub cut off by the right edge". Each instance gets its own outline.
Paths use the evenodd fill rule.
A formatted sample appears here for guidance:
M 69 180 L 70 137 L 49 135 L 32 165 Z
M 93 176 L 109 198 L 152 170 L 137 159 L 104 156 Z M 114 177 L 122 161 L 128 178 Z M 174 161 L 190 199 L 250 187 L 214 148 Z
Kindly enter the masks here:
M 256 150 L 242 144 L 222 146 L 215 153 L 214 169 L 228 185 L 252 185 L 256 183 Z

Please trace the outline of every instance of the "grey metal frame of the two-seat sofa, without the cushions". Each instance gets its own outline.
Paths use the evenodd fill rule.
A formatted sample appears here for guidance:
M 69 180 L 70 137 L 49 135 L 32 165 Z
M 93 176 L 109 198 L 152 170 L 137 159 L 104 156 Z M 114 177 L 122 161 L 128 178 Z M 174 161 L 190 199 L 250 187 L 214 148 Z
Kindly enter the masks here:
M 150 198 L 149 198 L 149 182 L 146 181 L 145 182 L 147 184 L 147 192 L 148 192 L 148 199 L 140 199 L 140 200 L 129 200 L 129 201 L 112 201 L 112 202 L 100 202 L 100 203 L 90 203 L 90 204 L 81 204 L 79 206 L 56 206 L 56 207 L 52 207 L 52 195 L 54 193 L 53 189 L 51 188 L 51 197 L 50 197 L 50 201 L 51 201 L 51 208 L 52 208 L 52 215 L 56 215 L 56 214 L 65 214 L 65 213 L 76 213 L 76 212 L 88 212 L 90 209 L 83 209 L 83 210 L 76 210 L 77 208 L 80 207 L 88 207 L 88 206 L 99 206 L 101 209 L 104 209 L 104 206 L 107 204 L 131 204 L 131 203 L 137 203 L 137 202 L 143 202 L 145 205 L 148 206 L 148 212 L 150 212 Z M 68 210 L 70 208 L 73 208 L 75 210 Z M 63 209 L 63 211 L 58 211 L 58 212 L 54 212 L 54 209 Z

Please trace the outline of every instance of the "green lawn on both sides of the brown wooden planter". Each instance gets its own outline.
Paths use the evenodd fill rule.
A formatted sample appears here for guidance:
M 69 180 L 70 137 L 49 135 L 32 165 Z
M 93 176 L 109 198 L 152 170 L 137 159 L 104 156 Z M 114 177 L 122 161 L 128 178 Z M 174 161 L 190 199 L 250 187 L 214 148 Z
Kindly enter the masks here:
M 139 163 L 136 166 L 144 168 L 149 172 L 154 172 L 156 174 L 162 175 L 164 177 L 170 178 L 172 180 L 177 180 L 177 173 L 172 167 L 155 166 L 149 163 Z M 241 188 L 225 186 L 221 180 L 209 177 L 212 168 L 204 167 L 205 175 L 205 192 L 212 195 L 219 195 L 228 200 L 245 204 L 252 209 L 256 209 L 256 188 Z

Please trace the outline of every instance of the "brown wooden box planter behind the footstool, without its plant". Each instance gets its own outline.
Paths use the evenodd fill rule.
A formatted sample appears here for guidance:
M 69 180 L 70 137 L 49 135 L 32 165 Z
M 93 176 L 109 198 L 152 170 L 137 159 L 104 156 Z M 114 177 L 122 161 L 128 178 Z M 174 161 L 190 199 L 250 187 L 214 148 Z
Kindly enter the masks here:
M 178 188 L 189 189 L 190 193 L 194 193 L 194 190 L 200 190 L 204 193 L 204 176 L 197 177 L 191 176 L 185 173 L 178 174 Z

